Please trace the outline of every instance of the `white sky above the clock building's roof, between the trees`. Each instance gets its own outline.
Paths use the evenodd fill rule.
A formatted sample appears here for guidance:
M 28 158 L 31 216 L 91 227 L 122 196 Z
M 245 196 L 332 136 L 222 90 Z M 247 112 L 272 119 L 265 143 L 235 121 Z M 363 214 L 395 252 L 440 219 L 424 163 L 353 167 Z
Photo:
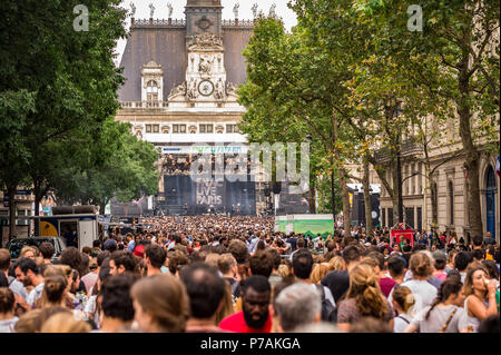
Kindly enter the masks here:
M 127 9 L 130 13 L 130 2 L 136 6 L 136 19 L 149 19 L 149 4 L 153 3 L 155 7 L 155 19 L 167 19 L 168 9 L 167 3 L 173 4 L 173 19 L 185 19 L 185 7 L 186 0 L 126 0 L 121 2 L 121 7 Z M 263 11 L 265 14 L 269 12 L 269 8 L 273 3 L 276 4 L 276 14 L 281 17 L 285 23 L 285 28 L 291 30 L 292 27 L 297 24 L 296 14 L 293 10 L 287 7 L 288 0 L 222 0 L 223 4 L 223 19 L 234 20 L 235 14 L 233 13 L 233 8 L 235 3 L 239 3 L 238 19 L 240 20 L 252 20 L 253 11 L 252 7 L 257 3 L 258 11 Z M 130 27 L 130 17 L 127 18 L 127 30 Z M 118 57 L 115 62 L 120 63 L 121 56 L 124 53 L 126 46 L 126 40 L 119 40 L 117 43 L 116 52 Z

